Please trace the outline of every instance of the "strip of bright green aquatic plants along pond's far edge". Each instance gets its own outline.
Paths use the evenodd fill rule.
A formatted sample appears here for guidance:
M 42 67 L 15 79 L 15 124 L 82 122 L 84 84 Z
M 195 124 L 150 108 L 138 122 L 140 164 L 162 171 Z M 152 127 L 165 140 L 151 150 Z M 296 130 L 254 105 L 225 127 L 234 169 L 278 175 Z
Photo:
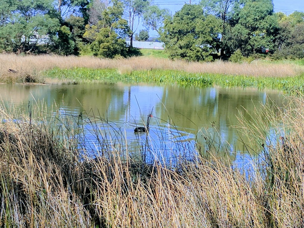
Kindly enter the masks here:
M 116 83 L 174 83 L 178 85 L 250 87 L 281 90 L 286 94 L 304 93 L 304 75 L 297 77 L 254 77 L 246 75 L 224 75 L 189 73 L 176 70 L 133 70 L 120 72 L 117 69 L 54 68 L 44 72 L 47 78 L 71 79 L 76 81 L 98 80 Z

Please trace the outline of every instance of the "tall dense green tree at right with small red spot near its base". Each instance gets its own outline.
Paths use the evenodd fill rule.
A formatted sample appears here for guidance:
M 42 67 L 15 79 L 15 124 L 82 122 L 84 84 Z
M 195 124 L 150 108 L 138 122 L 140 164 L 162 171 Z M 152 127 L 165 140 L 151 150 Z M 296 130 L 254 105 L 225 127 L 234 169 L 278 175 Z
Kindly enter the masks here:
M 245 56 L 273 53 L 278 21 L 273 14 L 272 1 L 247 0 L 238 17 L 237 24 L 230 26 L 227 29 L 229 32 L 226 32 L 227 52 L 240 49 Z

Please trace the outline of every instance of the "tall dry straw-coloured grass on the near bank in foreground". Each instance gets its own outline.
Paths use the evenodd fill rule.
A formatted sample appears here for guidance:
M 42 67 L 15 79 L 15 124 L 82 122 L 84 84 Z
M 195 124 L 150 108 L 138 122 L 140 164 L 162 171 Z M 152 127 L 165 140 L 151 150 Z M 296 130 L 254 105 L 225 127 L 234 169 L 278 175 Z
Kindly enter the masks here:
M 280 129 L 278 110 L 266 108 L 266 118 L 251 113 L 256 122 L 240 119 L 241 132 L 261 154 L 257 172 L 247 178 L 213 157 L 212 145 L 210 156 L 179 158 L 174 166 L 123 158 L 132 154 L 118 143 L 123 135 L 102 137 L 98 117 L 87 120 L 102 145 L 94 158 L 82 143 L 80 117 L 62 119 L 56 110 L 36 107 L 29 119 L 1 106 L 0 226 L 302 227 L 302 102 L 281 112 Z M 269 144 L 269 127 L 277 143 Z

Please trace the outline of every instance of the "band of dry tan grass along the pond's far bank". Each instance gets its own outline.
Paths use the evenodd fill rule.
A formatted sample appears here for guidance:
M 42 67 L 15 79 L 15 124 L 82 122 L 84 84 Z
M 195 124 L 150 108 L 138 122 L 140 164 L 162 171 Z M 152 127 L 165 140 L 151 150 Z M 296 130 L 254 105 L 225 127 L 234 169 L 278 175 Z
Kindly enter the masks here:
M 182 60 L 157 59 L 153 57 L 132 57 L 127 59 L 100 59 L 96 57 L 75 57 L 57 55 L 27 55 L 17 56 L 14 54 L 0 55 L 0 77 L 3 82 L 18 81 L 17 77 L 43 81 L 41 72 L 59 68 L 88 67 L 118 69 L 120 72 L 133 70 L 180 70 L 191 73 L 210 73 L 228 75 L 248 75 L 248 76 L 296 76 L 304 71 L 303 66 L 294 64 L 265 64 L 258 60 L 252 63 L 231 63 L 215 61 L 211 63 L 186 62 Z M 9 72 L 9 69 L 18 71 L 18 74 Z

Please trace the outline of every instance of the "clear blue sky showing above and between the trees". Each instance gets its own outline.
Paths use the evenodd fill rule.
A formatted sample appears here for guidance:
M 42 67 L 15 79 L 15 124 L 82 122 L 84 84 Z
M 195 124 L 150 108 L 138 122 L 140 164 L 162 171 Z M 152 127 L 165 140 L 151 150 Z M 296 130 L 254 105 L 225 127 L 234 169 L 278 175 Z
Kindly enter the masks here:
M 174 1 L 174 0 L 154 0 L 154 3 L 159 5 L 161 8 L 167 8 L 171 10 L 172 14 L 174 14 L 176 11 L 180 10 L 181 7 L 185 3 L 189 3 L 188 1 Z M 191 0 L 192 3 L 199 3 L 200 0 Z M 301 11 L 304 12 L 304 1 L 303 0 L 273 0 L 274 6 L 275 6 L 275 12 L 284 12 L 287 15 L 291 14 L 294 11 Z M 139 32 L 140 29 L 143 29 L 139 27 L 136 31 L 136 33 Z M 154 31 L 150 31 L 150 36 L 157 36 L 157 33 Z

